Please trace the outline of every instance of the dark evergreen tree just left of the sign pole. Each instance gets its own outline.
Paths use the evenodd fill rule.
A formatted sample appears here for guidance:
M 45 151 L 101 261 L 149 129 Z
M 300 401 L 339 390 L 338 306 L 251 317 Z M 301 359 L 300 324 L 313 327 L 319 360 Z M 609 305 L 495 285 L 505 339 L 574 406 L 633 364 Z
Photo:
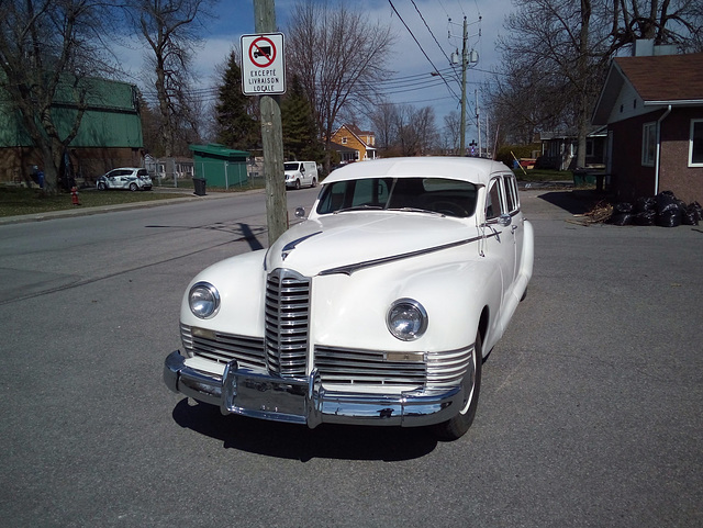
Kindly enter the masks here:
M 250 98 L 242 93 L 242 70 L 233 50 L 215 105 L 219 143 L 237 150 L 252 150 L 260 144 L 260 131 L 257 120 L 252 116 L 252 106 Z

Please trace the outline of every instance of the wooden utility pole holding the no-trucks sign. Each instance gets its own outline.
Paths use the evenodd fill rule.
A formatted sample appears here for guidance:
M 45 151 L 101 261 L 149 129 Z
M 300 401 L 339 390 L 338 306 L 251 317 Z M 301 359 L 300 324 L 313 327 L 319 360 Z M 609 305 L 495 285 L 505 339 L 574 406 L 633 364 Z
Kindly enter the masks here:
M 254 0 L 254 30 L 256 33 L 276 32 L 274 0 Z M 264 177 L 266 178 L 266 221 L 268 244 L 271 246 L 288 229 L 286 176 L 283 173 L 283 128 L 280 96 L 259 97 Z

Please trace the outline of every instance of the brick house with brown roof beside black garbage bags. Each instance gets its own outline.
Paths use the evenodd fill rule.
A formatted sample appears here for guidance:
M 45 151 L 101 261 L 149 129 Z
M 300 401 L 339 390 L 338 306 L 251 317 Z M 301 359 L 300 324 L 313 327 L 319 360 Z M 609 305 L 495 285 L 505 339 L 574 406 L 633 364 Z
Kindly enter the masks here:
M 703 202 L 703 53 L 617 57 L 592 116 L 607 126 L 618 200 L 672 191 Z

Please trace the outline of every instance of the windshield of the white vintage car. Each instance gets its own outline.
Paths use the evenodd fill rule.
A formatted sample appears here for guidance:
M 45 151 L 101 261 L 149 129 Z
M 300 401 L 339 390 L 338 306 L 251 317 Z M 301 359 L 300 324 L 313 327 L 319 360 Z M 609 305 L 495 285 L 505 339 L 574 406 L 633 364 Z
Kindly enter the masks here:
M 317 214 L 400 210 L 466 218 L 476 211 L 476 186 L 446 178 L 366 178 L 325 186 Z

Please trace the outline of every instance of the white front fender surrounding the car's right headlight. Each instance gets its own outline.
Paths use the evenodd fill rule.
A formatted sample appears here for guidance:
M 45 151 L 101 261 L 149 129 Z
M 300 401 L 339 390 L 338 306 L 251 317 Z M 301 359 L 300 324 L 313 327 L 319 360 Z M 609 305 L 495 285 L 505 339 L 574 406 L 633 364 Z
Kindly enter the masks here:
M 314 342 L 331 347 L 389 351 L 455 350 L 473 342 L 481 312 L 500 311 L 500 270 L 486 258 L 467 259 L 467 248 L 453 249 L 456 259 L 438 263 L 420 257 L 356 271 L 316 277 L 313 282 Z M 401 341 L 388 330 L 391 304 L 414 299 L 427 311 L 425 334 Z

